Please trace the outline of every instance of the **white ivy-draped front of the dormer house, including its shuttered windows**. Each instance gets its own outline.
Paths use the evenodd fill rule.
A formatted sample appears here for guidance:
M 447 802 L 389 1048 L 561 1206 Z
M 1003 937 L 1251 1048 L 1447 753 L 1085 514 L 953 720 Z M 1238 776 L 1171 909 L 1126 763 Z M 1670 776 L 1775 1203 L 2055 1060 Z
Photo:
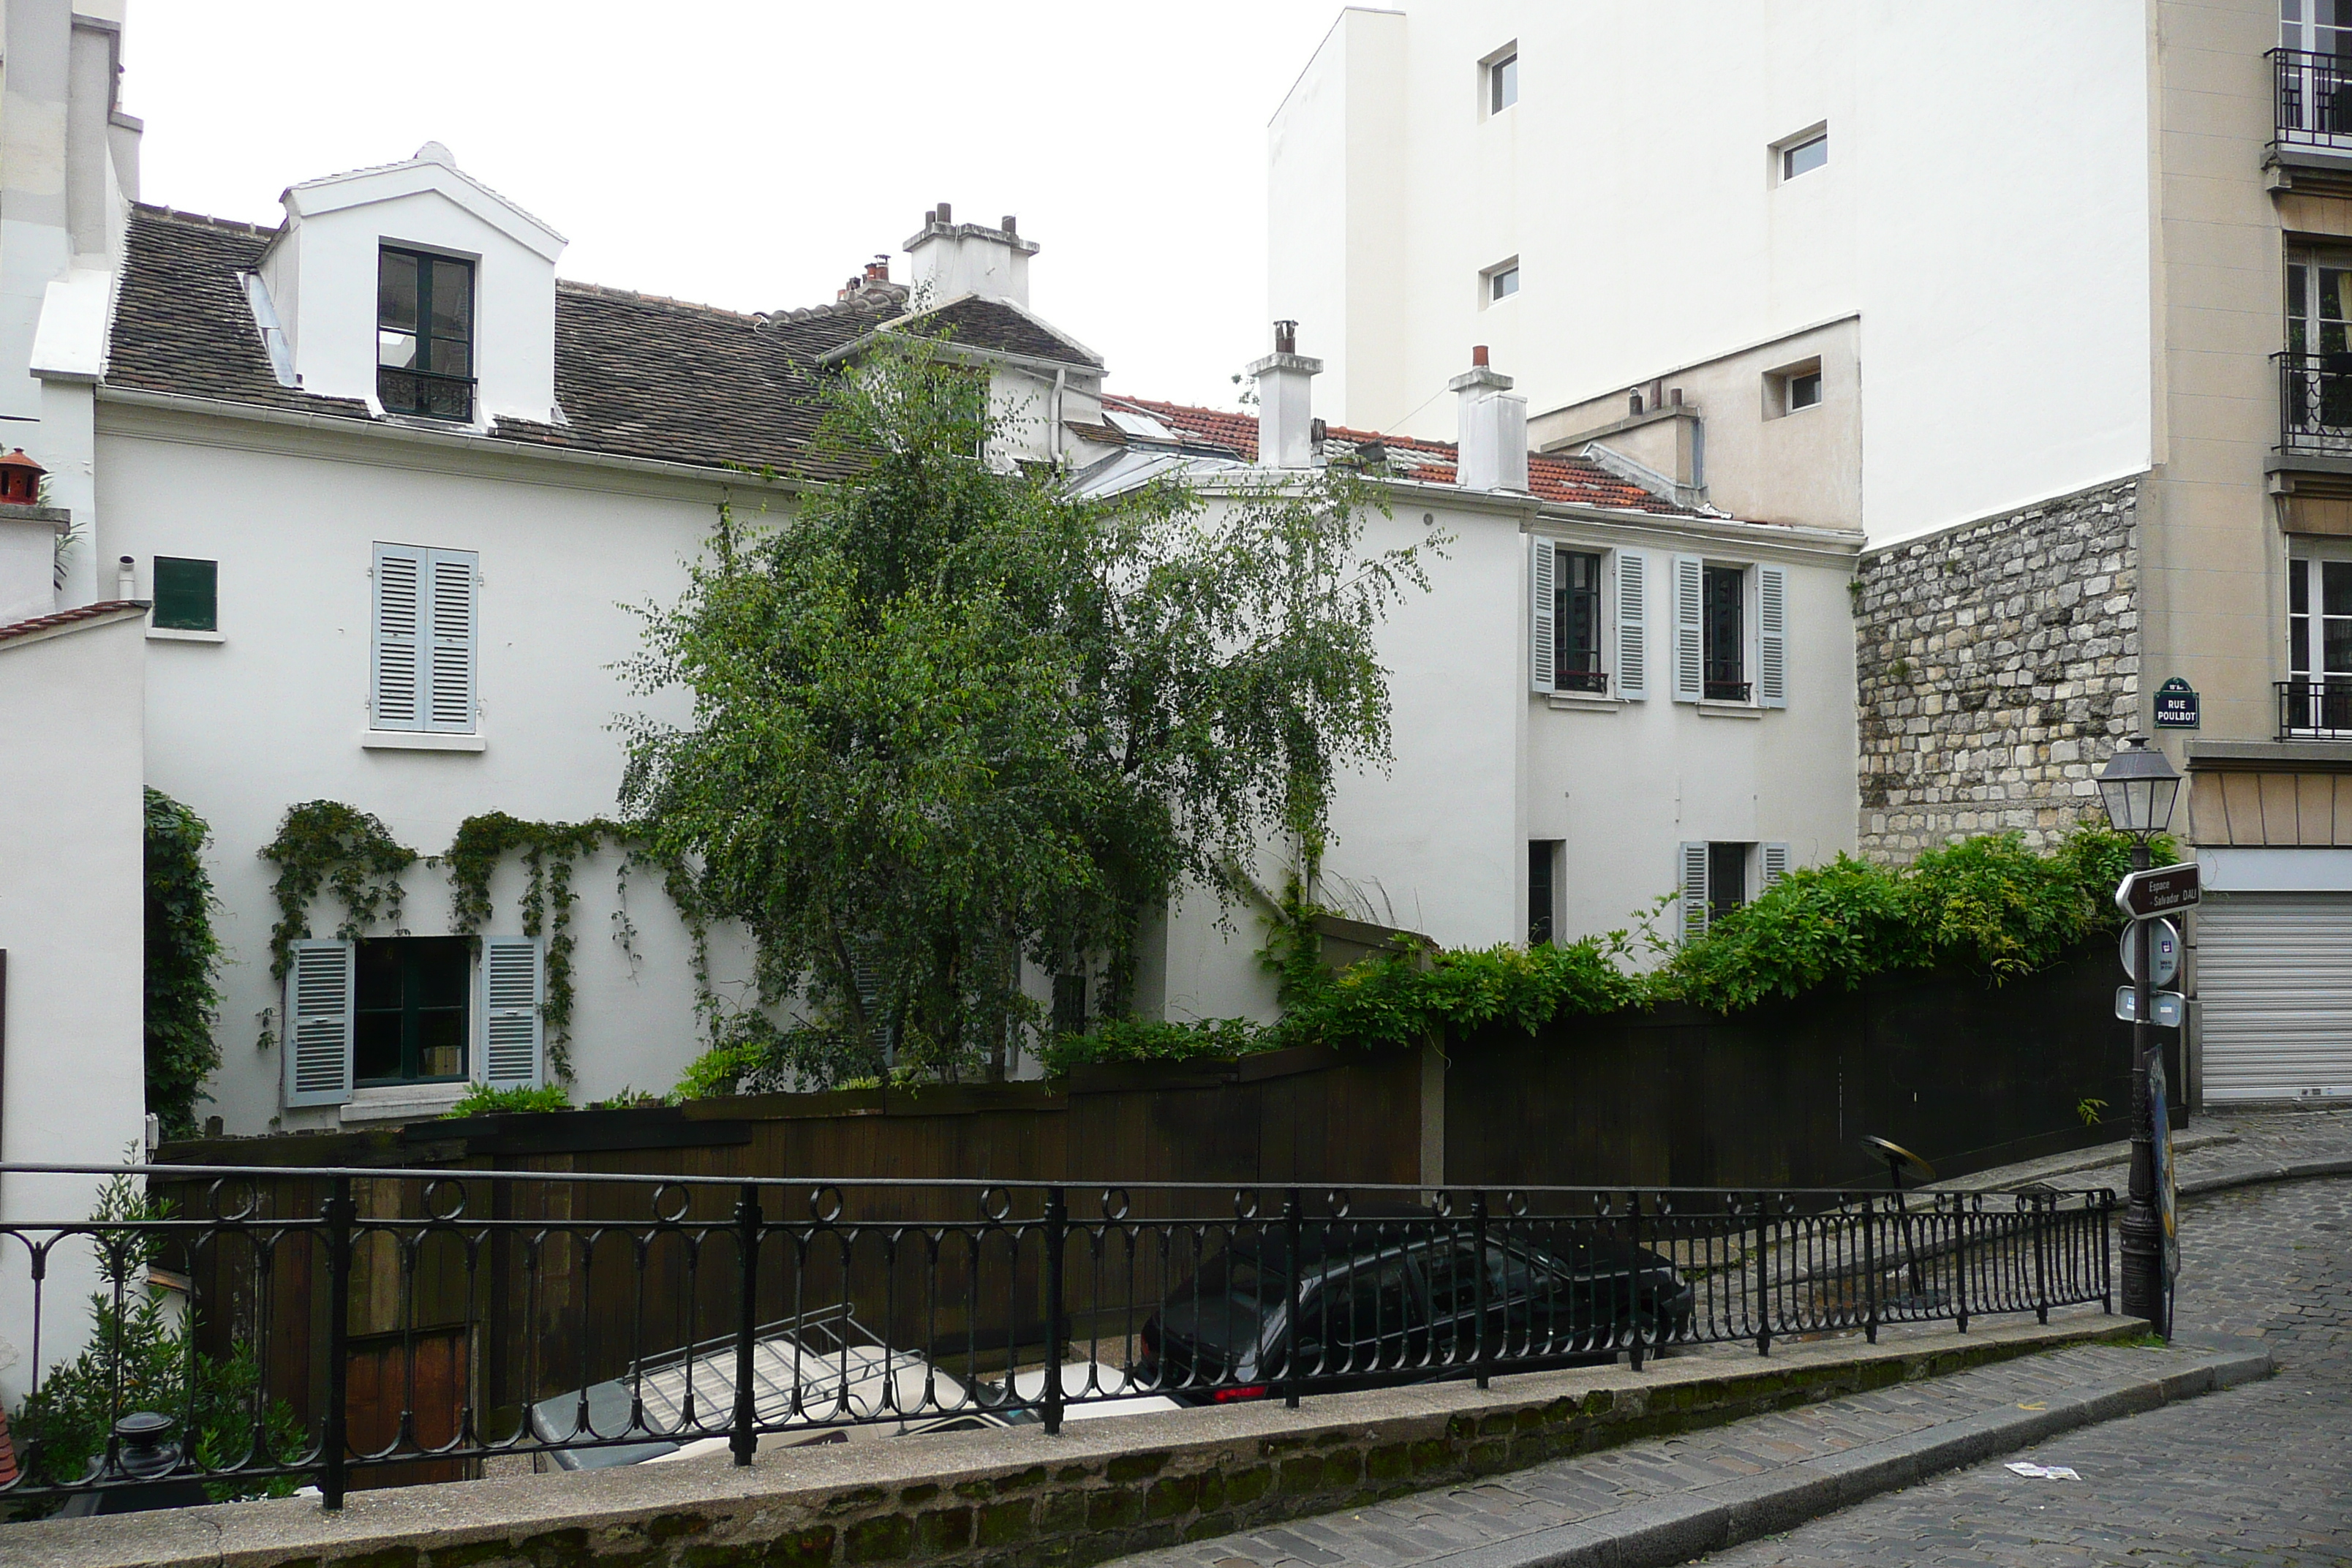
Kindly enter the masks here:
M 273 867 L 256 851 L 287 806 L 308 799 L 374 811 L 426 856 L 485 811 L 614 816 L 614 719 L 687 715 L 675 693 L 628 691 L 619 665 L 642 637 L 619 599 L 675 602 L 720 489 L 383 430 L 106 402 L 99 421 L 99 550 L 132 555 L 141 574 L 158 559 L 207 562 L 223 628 L 212 644 L 146 642 L 148 780 L 212 825 L 228 950 L 223 1067 L 200 1117 L 238 1133 L 273 1119 L 339 1126 L 400 1105 L 430 1110 L 470 1081 L 539 1081 L 543 1041 L 517 1034 L 527 1009 L 515 997 L 541 985 L 546 940 L 522 933 L 520 863 L 492 882 L 494 912 L 463 952 L 459 994 L 452 969 L 433 971 L 433 1027 L 461 1037 L 386 1067 L 367 1044 L 369 1013 L 381 1011 L 365 969 L 372 950 L 332 940 L 332 896 L 313 905 L 322 945 L 296 954 L 289 985 L 270 978 Z M 574 872 L 576 1100 L 666 1091 L 703 1044 L 687 931 L 659 877 L 637 875 L 630 940 L 614 940 L 616 870 L 604 851 Z M 447 938 L 447 872 L 419 865 L 402 886 L 400 929 L 365 938 Z M 722 997 L 743 1001 L 746 945 L 720 929 L 713 957 Z M 280 1041 L 266 1051 L 263 1023 Z M 452 1074 L 459 1056 L 463 1072 Z

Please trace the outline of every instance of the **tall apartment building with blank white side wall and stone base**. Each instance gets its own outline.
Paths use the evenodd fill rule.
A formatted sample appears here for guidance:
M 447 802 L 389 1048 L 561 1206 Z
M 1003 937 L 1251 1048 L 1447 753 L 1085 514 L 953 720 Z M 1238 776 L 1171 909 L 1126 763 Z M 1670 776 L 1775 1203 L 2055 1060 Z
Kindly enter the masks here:
M 2194 1091 L 2352 1093 L 2352 7 L 1348 9 L 1270 125 L 1338 416 L 1858 529 L 1860 849 L 2190 776 Z M 1573 329 L 1571 329 L 1573 324 Z

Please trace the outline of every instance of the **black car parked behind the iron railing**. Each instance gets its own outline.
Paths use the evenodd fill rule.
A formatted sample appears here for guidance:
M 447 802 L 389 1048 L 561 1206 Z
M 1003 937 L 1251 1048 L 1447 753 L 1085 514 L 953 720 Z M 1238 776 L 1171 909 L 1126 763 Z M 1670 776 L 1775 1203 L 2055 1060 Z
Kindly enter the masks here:
M 1606 1361 L 1689 1331 L 1672 1260 L 1590 1222 L 1515 1220 L 1484 1244 L 1486 1356 L 1498 1371 Z M 1298 1267 L 1279 1225 L 1237 1227 L 1143 1324 L 1136 1385 L 1174 1399 L 1458 1378 L 1479 1359 L 1479 1241 L 1468 1222 L 1310 1220 Z M 1298 1324 L 1289 1321 L 1298 1276 Z

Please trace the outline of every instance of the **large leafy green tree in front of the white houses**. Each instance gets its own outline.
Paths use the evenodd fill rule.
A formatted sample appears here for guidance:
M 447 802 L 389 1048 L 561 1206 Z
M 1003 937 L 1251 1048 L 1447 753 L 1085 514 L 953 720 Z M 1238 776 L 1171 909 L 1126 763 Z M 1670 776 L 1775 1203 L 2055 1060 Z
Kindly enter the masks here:
M 826 390 L 854 477 L 722 517 L 647 609 L 635 684 L 694 719 L 630 724 L 623 804 L 800 1004 L 722 1044 L 804 1081 L 1002 1072 L 1021 959 L 1096 957 L 1124 1013 L 1145 910 L 1279 835 L 1312 858 L 1334 776 L 1388 755 L 1374 632 L 1421 564 L 1364 550 L 1367 491 L 1089 501 L 976 456 L 1000 435 L 983 376 L 887 346 Z

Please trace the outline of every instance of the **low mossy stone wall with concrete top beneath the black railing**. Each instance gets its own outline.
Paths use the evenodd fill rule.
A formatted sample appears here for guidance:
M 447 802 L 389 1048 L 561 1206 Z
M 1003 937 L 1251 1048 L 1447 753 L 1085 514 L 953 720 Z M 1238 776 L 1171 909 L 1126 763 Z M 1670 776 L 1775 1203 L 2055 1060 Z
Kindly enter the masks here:
M 45 1568 L 1080 1568 L 1616 1443 L 2145 1333 L 2082 1316 L 1176 1415 L 0 1526 Z M 2018 1439 L 2027 1441 L 2027 1439 Z M 1762 1507 L 1762 1505 L 1755 1505 Z M 1677 1530 L 1682 1526 L 1675 1526 Z M 1672 1530 L 1668 1530 L 1672 1535 Z M 1675 1535 L 1679 1540 L 1679 1535 Z M 1644 1559 L 1651 1561 L 1651 1559 Z M 1663 1561 L 1663 1559 L 1658 1559 Z

